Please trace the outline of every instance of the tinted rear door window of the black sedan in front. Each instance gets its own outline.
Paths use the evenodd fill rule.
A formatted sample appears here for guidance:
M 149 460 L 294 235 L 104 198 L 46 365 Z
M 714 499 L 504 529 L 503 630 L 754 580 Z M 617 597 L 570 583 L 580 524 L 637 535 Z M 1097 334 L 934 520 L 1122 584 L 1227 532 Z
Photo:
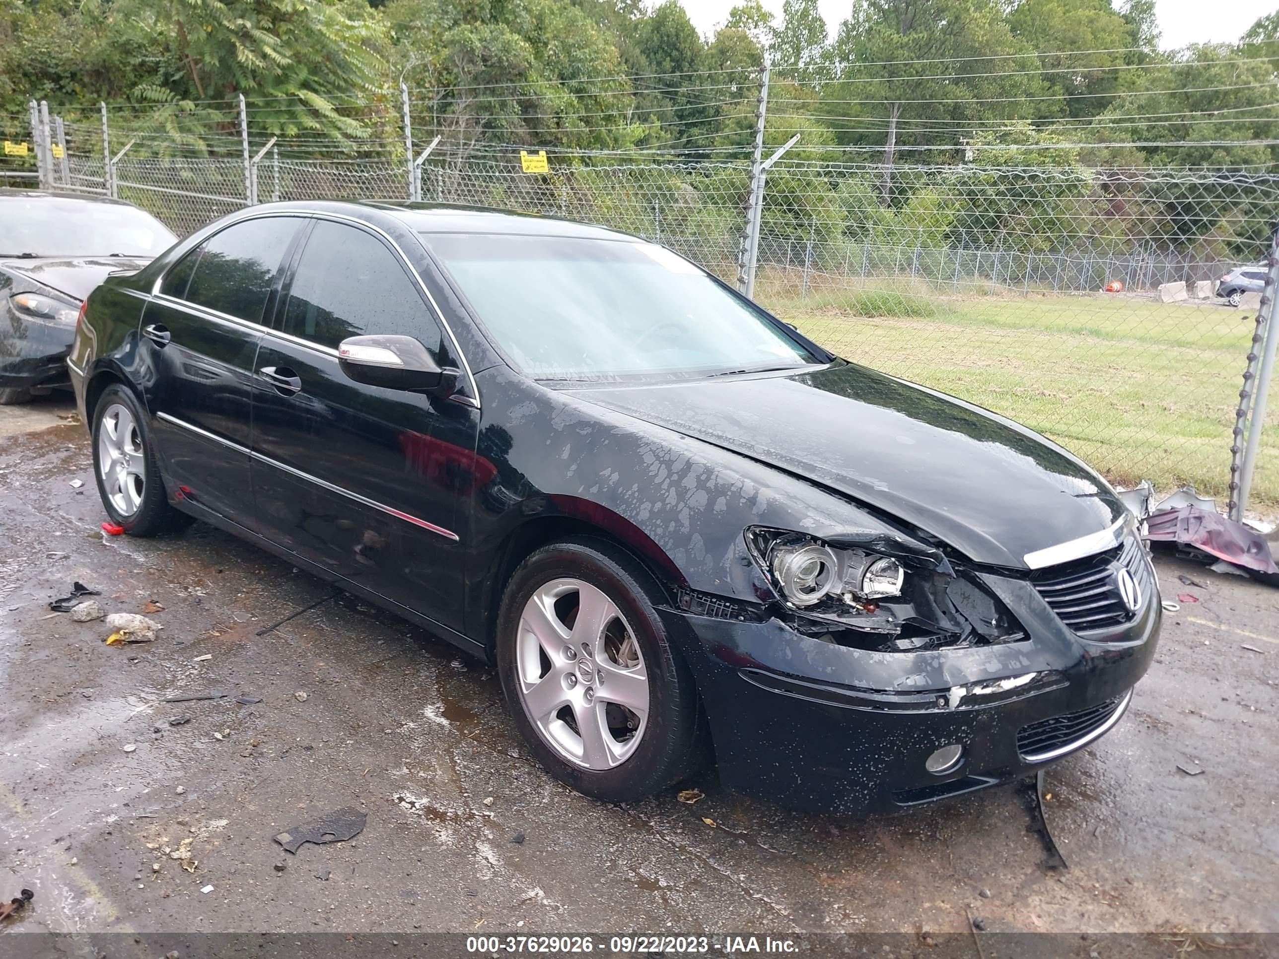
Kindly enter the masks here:
M 200 247 L 200 262 L 184 299 L 239 320 L 262 322 L 271 281 L 301 222 L 270 216 L 234 224 L 210 237 Z

